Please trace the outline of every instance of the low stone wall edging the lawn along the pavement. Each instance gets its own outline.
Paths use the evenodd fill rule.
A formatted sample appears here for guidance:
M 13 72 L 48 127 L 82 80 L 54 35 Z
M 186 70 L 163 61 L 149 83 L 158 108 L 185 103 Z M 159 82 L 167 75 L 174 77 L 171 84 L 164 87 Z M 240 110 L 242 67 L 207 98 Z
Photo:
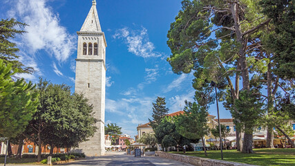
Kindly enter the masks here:
M 178 160 L 182 163 L 189 163 L 191 165 L 199 166 L 248 166 L 248 164 L 229 162 L 225 160 L 213 160 L 209 158 L 200 158 L 195 156 L 187 156 L 182 154 L 169 154 L 164 151 L 155 151 L 155 155 L 162 158 L 169 158 L 171 160 Z

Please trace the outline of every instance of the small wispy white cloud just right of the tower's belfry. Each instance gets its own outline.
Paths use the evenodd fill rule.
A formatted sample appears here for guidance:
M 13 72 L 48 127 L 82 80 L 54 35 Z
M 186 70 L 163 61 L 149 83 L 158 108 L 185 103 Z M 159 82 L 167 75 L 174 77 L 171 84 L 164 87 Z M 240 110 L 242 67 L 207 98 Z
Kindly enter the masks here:
M 130 53 L 140 57 L 160 57 L 161 54 L 154 51 L 155 46 L 149 42 L 146 28 L 142 30 L 130 30 L 122 28 L 113 35 L 114 39 L 124 39 Z

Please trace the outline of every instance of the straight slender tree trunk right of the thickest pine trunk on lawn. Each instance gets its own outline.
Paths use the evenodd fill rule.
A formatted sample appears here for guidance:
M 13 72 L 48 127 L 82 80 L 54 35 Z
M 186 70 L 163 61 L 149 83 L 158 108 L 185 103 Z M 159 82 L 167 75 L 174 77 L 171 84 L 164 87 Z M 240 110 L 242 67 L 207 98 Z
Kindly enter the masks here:
M 272 115 L 274 109 L 274 94 L 272 93 L 272 64 L 267 65 L 267 114 Z M 269 123 L 269 122 L 268 122 Z M 271 124 L 267 124 L 267 148 L 274 148 L 274 130 Z

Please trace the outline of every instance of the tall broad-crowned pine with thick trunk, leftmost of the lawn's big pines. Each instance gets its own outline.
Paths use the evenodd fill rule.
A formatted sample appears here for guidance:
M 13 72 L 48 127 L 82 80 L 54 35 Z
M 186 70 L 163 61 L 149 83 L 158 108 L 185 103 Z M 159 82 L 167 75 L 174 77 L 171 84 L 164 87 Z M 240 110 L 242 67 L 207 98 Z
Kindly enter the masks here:
M 234 103 L 239 98 L 240 77 L 242 89 L 250 91 L 250 69 L 261 70 L 265 63 L 255 59 L 252 50 L 261 48 L 259 35 L 270 21 L 261 14 L 259 1 L 184 0 L 167 35 L 172 53 L 167 60 L 174 73 L 195 72 L 193 87 L 200 95 L 207 94 L 206 86 L 213 80 L 228 89 Z M 241 127 L 236 130 L 241 150 L 243 126 L 238 123 L 245 122 L 240 122 L 238 116 L 234 122 Z M 245 133 L 244 143 L 252 142 L 251 135 Z M 253 152 L 251 147 L 243 148 L 246 153 Z

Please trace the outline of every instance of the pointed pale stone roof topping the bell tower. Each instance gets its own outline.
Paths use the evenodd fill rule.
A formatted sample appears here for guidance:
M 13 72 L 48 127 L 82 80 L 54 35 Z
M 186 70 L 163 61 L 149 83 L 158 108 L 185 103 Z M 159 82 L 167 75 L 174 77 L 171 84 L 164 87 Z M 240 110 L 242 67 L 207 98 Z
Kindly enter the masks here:
M 96 10 L 96 1 L 93 0 L 92 3 L 93 5 L 80 30 L 82 32 L 102 32 L 102 28 L 100 27 L 97 10 Z

